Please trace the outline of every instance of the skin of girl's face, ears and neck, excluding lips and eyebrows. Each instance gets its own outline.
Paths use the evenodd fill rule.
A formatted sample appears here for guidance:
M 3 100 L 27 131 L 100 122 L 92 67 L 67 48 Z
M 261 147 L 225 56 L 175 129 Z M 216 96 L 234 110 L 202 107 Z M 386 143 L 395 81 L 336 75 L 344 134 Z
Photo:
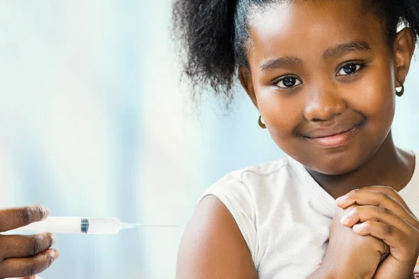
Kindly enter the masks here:
M 359 14 L 360 3 L 295 2 L 299 1 L 281 4 L 281 9 L 269 9 L 251 20 L 251 72 L 240 67 L 244 89 L 277 145 L 305 165 L 332 197 L 368 185 L 401 190 L 413 173 L 414 156 L 395 147 L 390 128 L 395 87 L 400 86 L 397 77 L 404 82 L 415 46 L 411 31 L 400 32 L 395 50 L 390 50 L 381 22 L 374 15 L 341 20 L 347 13 Z M 264 20 L 274 18 L 273 14 L 281 20 Z M 287 19 L 290 14 L 293 17 Z M 313 42 L 309 51 L 307 41 Z M 367 43 L 369 50 L 354 47 L 323 59 L 330 47 L 354 41 Z M 260 69 L 266 61 L 284 56 L 301 63 Z M 354 75 L 338 76 L 344 63 L 365 66 Z M 284 86 L 278 80 L 283 76 L 294 77 L 301 84 L 279 88 Z M 318 146 L 304 137 L 316 128 L 355 123 L 362 123 L 358 133 L 335 148 Z

